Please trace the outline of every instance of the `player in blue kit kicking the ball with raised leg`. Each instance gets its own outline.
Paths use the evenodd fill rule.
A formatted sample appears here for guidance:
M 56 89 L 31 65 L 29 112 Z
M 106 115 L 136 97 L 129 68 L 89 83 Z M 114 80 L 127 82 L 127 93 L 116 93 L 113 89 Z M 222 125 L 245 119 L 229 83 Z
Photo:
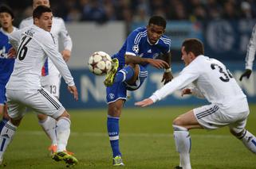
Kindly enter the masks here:
M 171 40 L 163 35 L 165 27 L 163 17 L 151 17 L 148 25 L 133 30 L 120 51 L 112 56 L 112 70 L 106 76 L 104 85 L 107 86 L 107 128 L 114 166 L 124 166 L 119 148 L 119 119 L 127 90 L 136 90 L 144 83 L 148 76 L 148 64 L 165 69 L 164 84 L 172 79 Z M 160 55 L 163 55 L 163 60 L 156 59 Z

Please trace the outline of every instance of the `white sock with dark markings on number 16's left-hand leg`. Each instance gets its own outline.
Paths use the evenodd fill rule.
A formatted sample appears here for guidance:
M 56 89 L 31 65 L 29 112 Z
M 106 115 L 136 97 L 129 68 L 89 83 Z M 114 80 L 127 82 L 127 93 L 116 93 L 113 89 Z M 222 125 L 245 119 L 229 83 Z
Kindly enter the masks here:
M 11 140 L 13 140 L 16 129 L 17 127 L 11 124 L 10 121 L 8 121 L 6 125 L 3 126 L 0 133 L 0 159 L 3 158 L 3 155 L 6 152 L 6 148 L 10 144 Z

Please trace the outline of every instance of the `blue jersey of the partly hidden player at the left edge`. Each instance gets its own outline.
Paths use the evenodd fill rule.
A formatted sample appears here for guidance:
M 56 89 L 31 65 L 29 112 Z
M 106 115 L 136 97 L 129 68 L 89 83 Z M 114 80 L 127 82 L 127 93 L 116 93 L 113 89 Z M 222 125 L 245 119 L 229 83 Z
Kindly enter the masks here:
M 6 86 L 10 79 L 10 74 L 14 70 L 14 58 L 9 59 L 8 51 L 12 45 L 9 43 L 8 36 L 0 31 L 0 84 Z

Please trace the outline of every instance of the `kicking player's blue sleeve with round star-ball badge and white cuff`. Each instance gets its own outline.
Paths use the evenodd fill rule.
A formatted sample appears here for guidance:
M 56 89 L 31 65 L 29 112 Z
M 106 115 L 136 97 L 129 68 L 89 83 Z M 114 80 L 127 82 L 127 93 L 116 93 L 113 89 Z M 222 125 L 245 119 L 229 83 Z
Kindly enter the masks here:
M 126 51 L 125 55 L 132 55 L 132 56 L 137 56 L 140 48 L 139 48 L 139 43 L 136 41 L 136 37 L 138 36 L 138 33 L 136 31 L 133 31 L 130 33 L 126 39 Z

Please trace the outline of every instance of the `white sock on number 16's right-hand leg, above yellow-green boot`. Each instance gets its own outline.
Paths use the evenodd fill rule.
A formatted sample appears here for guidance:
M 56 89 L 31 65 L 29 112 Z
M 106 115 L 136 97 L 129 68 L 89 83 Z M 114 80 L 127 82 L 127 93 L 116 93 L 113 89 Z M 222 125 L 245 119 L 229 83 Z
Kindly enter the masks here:
M 56 134 L 57 134 L 57 152 L 66 150 L 70 134 L 70 120 L 67 117 L 61 117 L 57 121 Z

